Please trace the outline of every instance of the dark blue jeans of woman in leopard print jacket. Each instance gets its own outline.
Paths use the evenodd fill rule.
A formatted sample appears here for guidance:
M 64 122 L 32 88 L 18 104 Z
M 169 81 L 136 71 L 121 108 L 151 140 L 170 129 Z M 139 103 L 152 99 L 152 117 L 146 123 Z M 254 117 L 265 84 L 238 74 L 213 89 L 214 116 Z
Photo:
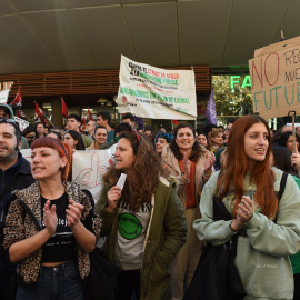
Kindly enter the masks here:
M 16 300 L 83 300 L 83 282 L 76 261 L 40 268 L 37 282 L 18 287 Z

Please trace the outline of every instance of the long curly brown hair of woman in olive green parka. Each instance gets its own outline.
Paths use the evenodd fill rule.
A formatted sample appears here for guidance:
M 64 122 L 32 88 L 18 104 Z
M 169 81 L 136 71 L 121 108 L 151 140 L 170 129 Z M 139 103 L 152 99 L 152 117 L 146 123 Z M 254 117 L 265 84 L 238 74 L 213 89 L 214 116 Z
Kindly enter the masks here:
M 122 200 L 129 203 L 130 209 L 137 211 L 142 203 L 150 202 L 159 182 L 162 167 L 150 141 L 136 131 L 122 132 L 120 139 L 127 139 L 136 156 L 132 173 L 129 173 L 122 190 Z M 116 169 L 116 164 L 108 168 L 103 174 L 103 182 L 113 187 L 118 182 L 122 170 Z

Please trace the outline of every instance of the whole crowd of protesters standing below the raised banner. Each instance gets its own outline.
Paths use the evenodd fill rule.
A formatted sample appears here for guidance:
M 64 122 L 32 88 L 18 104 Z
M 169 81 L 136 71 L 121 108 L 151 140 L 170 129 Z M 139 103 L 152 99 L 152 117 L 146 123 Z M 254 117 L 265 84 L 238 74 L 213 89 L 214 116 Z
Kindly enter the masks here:
M 127 113 L 113 129 L 104 111 L 84 131 L 69 114 L 67 129 L 20 132 L 0 104 L 0 299 L 84 299 L 89 253 L 103 237 L 120 269 L 114 299 L 300 299 L 293 133 L 273 134 L 258 116 L 154 131 Z M 112 144 L 93 199 L 72 181 L 73 153 Z

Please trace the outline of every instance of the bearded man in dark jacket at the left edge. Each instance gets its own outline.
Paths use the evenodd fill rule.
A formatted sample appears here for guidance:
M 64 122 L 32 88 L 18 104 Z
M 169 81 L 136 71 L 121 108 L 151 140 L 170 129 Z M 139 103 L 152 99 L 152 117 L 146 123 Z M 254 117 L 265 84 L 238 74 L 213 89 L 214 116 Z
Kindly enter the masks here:
M 29 162 L 19 152 L 21 132 L 13 119 L 0 118 L 0 232 L 4 227 L 10 206 L 10 194 L 13 190 L 21 190 L 34 182 Z M 11 277 L 16 267 L 4 260 L 0 248 L 0 299 L 9 297 Z

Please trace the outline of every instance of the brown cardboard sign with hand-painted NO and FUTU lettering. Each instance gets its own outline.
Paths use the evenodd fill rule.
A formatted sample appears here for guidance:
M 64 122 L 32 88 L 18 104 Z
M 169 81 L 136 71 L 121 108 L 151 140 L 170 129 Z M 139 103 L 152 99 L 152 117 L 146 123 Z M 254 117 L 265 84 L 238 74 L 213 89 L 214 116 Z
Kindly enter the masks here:
M 254 112 L 264 119 L 300 113 L 300 37 L 256 50 L 249 71 Z

